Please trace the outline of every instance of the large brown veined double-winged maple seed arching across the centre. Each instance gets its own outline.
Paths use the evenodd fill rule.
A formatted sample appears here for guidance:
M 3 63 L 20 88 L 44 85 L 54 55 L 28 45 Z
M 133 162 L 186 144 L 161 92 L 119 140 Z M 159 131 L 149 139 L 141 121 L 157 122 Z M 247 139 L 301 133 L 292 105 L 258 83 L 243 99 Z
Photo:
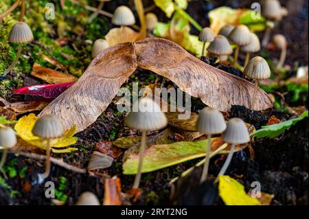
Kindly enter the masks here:
M 149 69 L 172 80 L 180 89 L 200 97 L 208 106 L 228 111 L 231 105 L 250 108 L 254 85 L 216 69 L 162 38 L 145 38 L 104 49 L 88 69 L 41 113 L 55 114 L 65 128 L 78 131 L 91 125 L 111 103 L 117 91 L 137 67 Z M 273 106 L 267 93 L 258 90 L 254 110 Z

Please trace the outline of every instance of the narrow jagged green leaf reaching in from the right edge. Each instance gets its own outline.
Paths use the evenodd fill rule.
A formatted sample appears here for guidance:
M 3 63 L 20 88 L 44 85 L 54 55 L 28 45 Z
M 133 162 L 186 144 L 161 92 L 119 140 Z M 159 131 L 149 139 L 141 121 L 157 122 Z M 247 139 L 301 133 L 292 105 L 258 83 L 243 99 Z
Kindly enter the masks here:
M 299 117 L 295 119 L 290 119 L 285 122 L 281 122 L 279 124 L 274 124 L 271 126 L 262 126 L 261 129 L 253 132 L 251 136 L 255 136 L 257 138 L 268 137 L 273 139 L 280 135 L 284 130 L 290 128 L 290 126 L 295 125 L 297 122 L 301 121 L 302 119 L 308 117 L 308 111 L 302 113 Z

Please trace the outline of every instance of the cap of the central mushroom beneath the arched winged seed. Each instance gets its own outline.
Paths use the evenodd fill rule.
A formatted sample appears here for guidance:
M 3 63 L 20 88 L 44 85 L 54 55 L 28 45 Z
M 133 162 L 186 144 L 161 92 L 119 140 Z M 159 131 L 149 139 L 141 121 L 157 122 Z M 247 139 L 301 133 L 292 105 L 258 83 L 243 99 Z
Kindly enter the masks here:
M 126 117 L 126 125 L 137 130 L 159 130 L 168 124 L 160 106 L 149 97 L 141 97 L 133 104 L 133 112 Z

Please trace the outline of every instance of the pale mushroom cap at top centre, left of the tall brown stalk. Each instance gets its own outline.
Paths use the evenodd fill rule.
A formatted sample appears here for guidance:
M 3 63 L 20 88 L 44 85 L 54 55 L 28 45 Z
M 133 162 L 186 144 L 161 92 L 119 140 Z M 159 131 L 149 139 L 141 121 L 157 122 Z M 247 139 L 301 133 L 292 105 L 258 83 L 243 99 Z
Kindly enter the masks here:
M 133 25 L 135 24 L 135 16 L 130 8 L 122 5 L 116 8 L 111 22 L 121 26 Z

